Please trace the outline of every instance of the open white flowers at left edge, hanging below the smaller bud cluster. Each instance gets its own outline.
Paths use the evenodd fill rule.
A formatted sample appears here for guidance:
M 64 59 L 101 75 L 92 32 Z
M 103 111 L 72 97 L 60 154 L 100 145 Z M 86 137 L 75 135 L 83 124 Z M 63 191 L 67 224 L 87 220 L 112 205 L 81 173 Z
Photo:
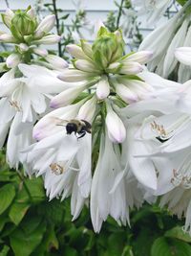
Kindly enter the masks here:
M 14 78 L 15 69 L 11 69 L 0 79 L 0 144 L 3 146 L 10 128 L 7 159 L 11 167 L 18 167 L 20 151 L 32 143 L 37 114 L 46 111 L 54 93 L 66 88 L 53 71 L 44 67 L 19 64 L 19 69 L 25 77 Z

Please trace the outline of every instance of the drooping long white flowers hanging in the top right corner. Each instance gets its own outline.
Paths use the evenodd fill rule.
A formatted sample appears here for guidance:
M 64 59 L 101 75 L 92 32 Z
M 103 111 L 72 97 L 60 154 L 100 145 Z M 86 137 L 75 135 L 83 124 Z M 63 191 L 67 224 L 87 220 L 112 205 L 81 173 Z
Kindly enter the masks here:
M 190 79 L 189 69 L 183 64 L 179 66 L 178 59 L 175 58 L 177 48 L 189 46 L 191 29 L 189 13 L 186 12 L 189 6 L 188 1 L 173 18 L 147 35 L 139 46 L 140 51 L 149 49 L 153 52 L 148 69 L 155 70 L 163 78 L 168 78 L 178 70 L 178 81 Z

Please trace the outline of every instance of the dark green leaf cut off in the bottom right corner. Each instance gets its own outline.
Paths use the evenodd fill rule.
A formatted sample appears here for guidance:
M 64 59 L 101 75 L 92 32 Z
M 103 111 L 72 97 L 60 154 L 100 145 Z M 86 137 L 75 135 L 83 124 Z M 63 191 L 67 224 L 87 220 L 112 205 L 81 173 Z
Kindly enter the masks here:
M 179 240 L 158 238 L 151 248 L 151 256 L 190 256 L 191 246 Z

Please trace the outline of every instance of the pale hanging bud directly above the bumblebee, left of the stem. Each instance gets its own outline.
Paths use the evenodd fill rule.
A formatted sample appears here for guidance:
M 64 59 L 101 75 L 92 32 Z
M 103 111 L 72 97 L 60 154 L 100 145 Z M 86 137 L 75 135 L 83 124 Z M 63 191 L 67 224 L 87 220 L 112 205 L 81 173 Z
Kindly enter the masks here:
M 77 118 L 86 120 L 92 123 L 95 112 L 96 112 L 96 97 L 94 96 L 79 108 Z

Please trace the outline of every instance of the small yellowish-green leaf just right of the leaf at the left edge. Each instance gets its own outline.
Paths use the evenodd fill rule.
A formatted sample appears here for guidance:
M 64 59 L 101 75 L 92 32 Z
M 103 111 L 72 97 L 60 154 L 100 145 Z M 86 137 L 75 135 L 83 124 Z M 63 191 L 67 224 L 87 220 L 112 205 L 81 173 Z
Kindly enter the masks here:
M 29 209 L 30 204 L 27 202 L 14 202 L 11 205 L 9 217 L 15 225 L 18 225 L 22 221 L 23 217 L 26 215 L 27 210 Z

